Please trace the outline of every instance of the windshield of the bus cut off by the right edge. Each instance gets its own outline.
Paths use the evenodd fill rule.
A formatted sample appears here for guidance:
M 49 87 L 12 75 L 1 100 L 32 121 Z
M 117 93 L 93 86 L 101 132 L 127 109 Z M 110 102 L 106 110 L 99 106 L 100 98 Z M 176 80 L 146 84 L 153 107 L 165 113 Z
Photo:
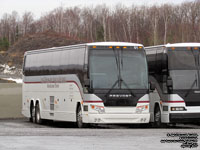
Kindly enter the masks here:
M 187 48 L 168 50 L 168 67 L 173 89 L 198 89 L 199 51 Z

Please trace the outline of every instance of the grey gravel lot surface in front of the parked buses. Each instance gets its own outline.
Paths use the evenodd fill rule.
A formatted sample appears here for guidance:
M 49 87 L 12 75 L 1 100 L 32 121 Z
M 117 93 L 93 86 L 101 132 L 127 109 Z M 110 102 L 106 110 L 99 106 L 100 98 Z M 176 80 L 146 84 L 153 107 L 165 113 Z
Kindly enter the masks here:
M 73 124 L 37 125 L 27 119 L 0 120 L 0 150 L 121 150 L 121 149 L 182 149 L 182 143 L 161 143 L 176 140 L 169 134 L 200 134 L 198 125 L 178 125 L 163 129 L 138 126 L 93 126 L 78 129 Z M 198 140 L 198 139 L 197 139 Z M 195 142 L 193 142 L 195 144 Z M 199 144 L 197 141 L 196 144 Z M 196 145 L 195 149 L 199 147 Z

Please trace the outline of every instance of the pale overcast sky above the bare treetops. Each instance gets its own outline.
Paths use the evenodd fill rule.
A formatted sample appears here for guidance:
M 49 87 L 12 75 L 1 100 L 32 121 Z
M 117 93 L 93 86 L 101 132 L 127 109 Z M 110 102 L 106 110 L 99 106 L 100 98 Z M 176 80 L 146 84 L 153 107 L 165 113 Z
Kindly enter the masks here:
M 4 13 L 12 13 L 12 11 L 17 11 L 20 16 L 26 11 L 31 11 L 35 18 L 39 18 L 59 6 L 84 7 L 106 4 L 112 7 L 118 3 L 125 6 L 131 6 L 132 4 L 149 6 L 163 3 L 179 4 L 185 1 L 194 0 L 0 0 L 0 17 Z

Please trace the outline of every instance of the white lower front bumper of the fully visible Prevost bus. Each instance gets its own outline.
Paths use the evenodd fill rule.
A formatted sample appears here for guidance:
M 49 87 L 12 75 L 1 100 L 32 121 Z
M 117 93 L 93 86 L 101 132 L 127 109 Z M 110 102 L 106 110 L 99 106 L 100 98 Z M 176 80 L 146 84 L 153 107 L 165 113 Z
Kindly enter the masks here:
M 139 124 L 149 123 L 150 113 L 146 114 L 84 114 L 84 123 L 94 124 Z

